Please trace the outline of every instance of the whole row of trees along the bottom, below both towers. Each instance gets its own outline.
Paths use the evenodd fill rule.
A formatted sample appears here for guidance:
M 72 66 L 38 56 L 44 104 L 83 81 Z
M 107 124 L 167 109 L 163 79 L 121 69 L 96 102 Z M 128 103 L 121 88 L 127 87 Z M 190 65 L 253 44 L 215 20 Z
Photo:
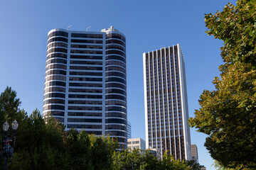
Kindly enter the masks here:
M 84 130 L 78 133 L 73 128 L 65 131 L 62 123 L 52 117 L 43 119 L 37 109 L 28 116 L 19 109 L 21 102 L 9 87 L 0 98 L 2 118 L 17 119 L 19 124 L 14 157 L 9 159 L 8 169 L 198 170 L 193 162 L 180 162 L 167 154 L 160 161 L 149 150 L 116 151 L 119 147 L 117 140 L 88 135 Z M 0 166 L 3 166 L 3 159 Z

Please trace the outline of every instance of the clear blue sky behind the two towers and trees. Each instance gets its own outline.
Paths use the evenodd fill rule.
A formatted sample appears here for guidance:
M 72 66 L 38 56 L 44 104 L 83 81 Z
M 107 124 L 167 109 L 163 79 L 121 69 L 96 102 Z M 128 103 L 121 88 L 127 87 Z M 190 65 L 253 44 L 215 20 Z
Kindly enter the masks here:
M 235 4 L 235 1 L 231 1 Z M 181 43 L 186 62 L 189 115 L 203 89 L 218 76 L 220 40 L 206 35 L 204 13 L 221 11 L 228 1 L 0 1 L 0 91 L 11 86 L 30 114 L 42 111 L 47 33 L 53 28 L 100 31 L 114 26 L 127 38 L 128 120 L 132 137 L 145 139 L 142 54 Z M 206 135 L 191 129 L 199 162 L 214 169 L 203 143 Z

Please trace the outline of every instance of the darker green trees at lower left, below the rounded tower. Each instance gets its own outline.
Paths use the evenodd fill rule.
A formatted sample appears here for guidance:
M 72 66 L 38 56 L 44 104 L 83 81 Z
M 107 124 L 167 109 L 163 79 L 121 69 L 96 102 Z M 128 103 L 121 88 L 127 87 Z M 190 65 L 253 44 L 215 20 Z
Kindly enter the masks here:
M 44 120 L 37 109 L 28 116 L 20 104 L 9 87 L 0 96 L 2 123 L 16 119 L 19 124 L 8 169 L 111 169 L 117 140 L 88 135 L 83 130 L 65 131 L 62 123 L 51 117 Z

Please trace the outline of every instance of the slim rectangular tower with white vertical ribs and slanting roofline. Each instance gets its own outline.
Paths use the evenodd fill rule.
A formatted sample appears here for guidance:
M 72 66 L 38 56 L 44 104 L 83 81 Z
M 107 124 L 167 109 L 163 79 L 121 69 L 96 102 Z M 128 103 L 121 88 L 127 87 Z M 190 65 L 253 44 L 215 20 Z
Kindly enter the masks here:
M 191 160 L 185 63 L 181 46 L 143 54 L 146 148 Z

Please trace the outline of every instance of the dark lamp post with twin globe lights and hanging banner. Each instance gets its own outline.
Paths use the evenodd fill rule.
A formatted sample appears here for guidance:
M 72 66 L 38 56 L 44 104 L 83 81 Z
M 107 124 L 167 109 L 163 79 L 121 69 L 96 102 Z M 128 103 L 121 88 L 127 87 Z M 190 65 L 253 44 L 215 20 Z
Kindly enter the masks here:
M 13 157 L 14 154 L 14 145 L 15 145 L 15 132 L 18 128 L 18 122 L 14 120 L 13 123 L 11 123 L 11 129 L 12 129 L 12 135 L 8 133 L 9 130 L 9 124 L 7 121 L 3 124 L 3 131 L 4 131 L 4 137 L 2 140 L 2 152 L 1 157 L 4 158 L 4 170 L 7 169 L 7 161 L 9 157 Z

